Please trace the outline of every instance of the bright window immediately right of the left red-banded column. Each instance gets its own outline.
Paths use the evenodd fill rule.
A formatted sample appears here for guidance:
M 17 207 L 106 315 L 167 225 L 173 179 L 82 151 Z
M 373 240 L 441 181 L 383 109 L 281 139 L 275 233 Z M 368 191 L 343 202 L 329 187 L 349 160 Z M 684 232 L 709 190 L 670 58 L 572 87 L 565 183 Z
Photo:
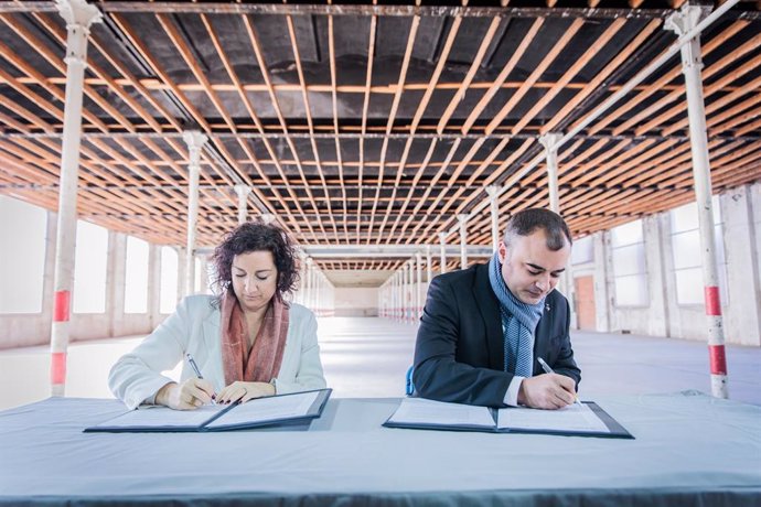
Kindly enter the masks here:
M 74 255 L 74 313 L 106 311 L 106 278 L 108 270 L 108 230 L 77 220 L 76 254 Z

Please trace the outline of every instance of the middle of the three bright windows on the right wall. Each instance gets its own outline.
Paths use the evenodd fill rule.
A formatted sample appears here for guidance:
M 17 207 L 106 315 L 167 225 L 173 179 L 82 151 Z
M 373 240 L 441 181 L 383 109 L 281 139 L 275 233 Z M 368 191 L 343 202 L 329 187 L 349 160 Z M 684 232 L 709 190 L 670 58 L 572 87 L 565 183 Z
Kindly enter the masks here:
M 647 266 L 642 220 L 611 229 L 617 306 L 646 306 Z

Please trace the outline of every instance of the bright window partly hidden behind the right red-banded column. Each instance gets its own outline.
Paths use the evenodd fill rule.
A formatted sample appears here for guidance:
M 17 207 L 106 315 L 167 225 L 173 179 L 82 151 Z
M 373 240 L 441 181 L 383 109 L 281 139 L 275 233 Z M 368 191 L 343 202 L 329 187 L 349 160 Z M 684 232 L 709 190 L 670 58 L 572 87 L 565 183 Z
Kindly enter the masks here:
M 714 239 L 719 271 L 719 294 L 727 304 L 727 261 L 724 251 L 724 227 L 718 196 L 712 198 Z M 697 204 L 689 203 L 672 209 L 672 255 L 678 304 L 704 304 L 703 257 Z

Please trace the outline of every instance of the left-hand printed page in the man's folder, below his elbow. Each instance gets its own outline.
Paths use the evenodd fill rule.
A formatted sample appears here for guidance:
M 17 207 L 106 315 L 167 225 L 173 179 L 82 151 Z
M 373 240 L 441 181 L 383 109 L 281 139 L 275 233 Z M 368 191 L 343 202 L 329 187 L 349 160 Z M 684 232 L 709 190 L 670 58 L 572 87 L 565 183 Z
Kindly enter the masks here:
M 486 407 L 447 403 L 424 398 L 403 399 L 388 422 L 494 428 L 494 419 Z

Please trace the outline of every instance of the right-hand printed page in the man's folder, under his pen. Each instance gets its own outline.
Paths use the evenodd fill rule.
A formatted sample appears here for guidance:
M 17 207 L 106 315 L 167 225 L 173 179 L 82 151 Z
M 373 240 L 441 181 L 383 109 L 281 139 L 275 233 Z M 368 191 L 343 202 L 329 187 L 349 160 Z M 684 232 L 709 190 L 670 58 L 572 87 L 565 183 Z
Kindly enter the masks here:
M 500 409 L 496 419 L 499 429 L 610 432 L 605 423 L 588 406 L 578 403 L 559 410 L 524 407 Z

